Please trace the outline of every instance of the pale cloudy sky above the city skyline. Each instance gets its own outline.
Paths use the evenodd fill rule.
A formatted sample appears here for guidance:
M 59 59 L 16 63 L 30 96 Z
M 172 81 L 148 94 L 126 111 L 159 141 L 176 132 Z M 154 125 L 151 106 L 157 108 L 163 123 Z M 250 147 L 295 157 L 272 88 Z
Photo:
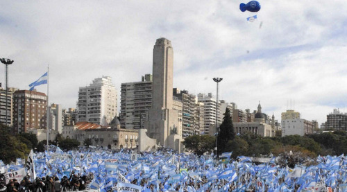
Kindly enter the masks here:
M 219 99 L 251 111 L 260 103 L 278 121 L 286 110 L 319 125 L 333 109 L 347 112 L 347 2 L 260 0 L 260 11 L 241 12 L 247 2 L 0 1 L 0 58 L 15 61 L 8 87 L 29 89 L 49 69 L 49 102 L 69 108 L 79 87 L 110 76 L 120 101 L 121 83 L 152 73 L 165 37 L 174 87 L 189 94 L 216 95 L 212 78 L 223 78 Z

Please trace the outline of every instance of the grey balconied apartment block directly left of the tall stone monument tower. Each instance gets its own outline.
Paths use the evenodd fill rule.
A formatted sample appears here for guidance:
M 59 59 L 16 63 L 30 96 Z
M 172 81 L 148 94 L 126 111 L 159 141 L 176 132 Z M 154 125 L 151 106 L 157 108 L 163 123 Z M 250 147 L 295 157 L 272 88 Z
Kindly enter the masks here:
M 143 128 L 146 112 L 152 107 L 151 74 L 142 76 L 140 82 L 125 82 L 121 84 L 121 128 Z

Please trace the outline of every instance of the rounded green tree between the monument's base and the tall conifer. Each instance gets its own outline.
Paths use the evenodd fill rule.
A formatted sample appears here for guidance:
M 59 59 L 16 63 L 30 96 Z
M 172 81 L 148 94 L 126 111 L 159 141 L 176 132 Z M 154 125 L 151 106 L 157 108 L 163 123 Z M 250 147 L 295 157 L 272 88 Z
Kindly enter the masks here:
M 211 152 L 213 150 L 215 141 L 216 139 L 208 134 L 194 134 L 185 138 L 183 144 L 187 150 L 191 150 L 200 157 L 205 152 Z

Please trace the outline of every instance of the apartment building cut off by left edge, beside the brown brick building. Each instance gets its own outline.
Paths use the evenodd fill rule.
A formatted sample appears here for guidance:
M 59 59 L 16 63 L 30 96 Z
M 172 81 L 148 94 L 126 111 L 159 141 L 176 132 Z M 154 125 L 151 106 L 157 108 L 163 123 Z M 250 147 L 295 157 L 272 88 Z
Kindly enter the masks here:
M 0 123 L 3 125 L 5 125 L 6 122 L 7 125 L 12 125 L 12 95 L 16 90 L 15 88 L 8 87 L 6 96 L 6 88 L 2 88 L 0 83 Z

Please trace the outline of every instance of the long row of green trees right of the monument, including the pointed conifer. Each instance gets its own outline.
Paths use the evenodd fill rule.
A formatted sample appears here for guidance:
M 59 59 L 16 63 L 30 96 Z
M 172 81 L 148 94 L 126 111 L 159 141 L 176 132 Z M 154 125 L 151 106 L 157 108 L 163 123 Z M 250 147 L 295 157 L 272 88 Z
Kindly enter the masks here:
M 207 134 L 192 135 L 183 142 L 185 148 L 196 155 L 214 152 L 216 137 Z M 318 155 L 341 155 L 347 153 L 347 132 L 338 130 L 308 134 L 303 137 L 290 135 L 286 137 L 262 137 L 257 134 L 245 133 L 236 135 L 230 110 L 226 109 L 223 122 L 219 126 L 217 137 L 218 154 L 231 152 L 232 158 L 238 156 L 262 157 L 281 155 L 290 151 L 301 157 L 317 157 Z

